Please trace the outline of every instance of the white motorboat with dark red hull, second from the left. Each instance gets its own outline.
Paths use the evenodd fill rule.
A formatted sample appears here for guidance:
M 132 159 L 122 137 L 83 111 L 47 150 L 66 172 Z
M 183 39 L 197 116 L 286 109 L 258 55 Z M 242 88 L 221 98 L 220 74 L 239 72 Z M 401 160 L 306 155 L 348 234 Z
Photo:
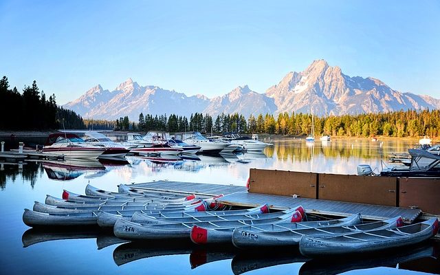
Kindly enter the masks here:
M 84 135 L 87 137 L 85 142 L 107 149 L 98 157 L 100 159 L 108 157 L 124 157 L 127 153 L 129 153 L 130 148 L 137 146 L 136 144 L 133 144 L 133 146 L 124 146 L 118 142 L 113 142 L 113 140 L 110 140 L 109 137 L 106 137 L 104 134 L 98 132 L 86 132 Z

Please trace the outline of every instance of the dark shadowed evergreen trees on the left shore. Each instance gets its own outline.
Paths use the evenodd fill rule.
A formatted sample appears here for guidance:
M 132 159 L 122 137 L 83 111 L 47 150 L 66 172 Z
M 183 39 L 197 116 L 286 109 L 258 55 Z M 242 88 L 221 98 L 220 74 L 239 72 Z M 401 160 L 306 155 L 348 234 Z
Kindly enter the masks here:
M 0 80 L 0 129 L 1 130 L 47 130 L 84 129 L 80 115 L 56 106 L 55 94 L 46 95 L 36 85 L 25 86 L 23 94 L 17 87 L 9 89 L 6 76 Z

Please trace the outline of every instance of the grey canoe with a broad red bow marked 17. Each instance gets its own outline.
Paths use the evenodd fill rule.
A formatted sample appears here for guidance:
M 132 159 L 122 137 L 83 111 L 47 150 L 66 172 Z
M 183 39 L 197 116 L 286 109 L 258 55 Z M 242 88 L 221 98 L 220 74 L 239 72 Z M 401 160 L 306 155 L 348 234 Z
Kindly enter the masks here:
M 231 243 L 233 234 L 241 234 L 241 232 L 252 232 L 251 236 L 257 232 L 277 232 L 286 230 L 298 230 L 299 228 L 322 228 L 336 225 L 353 225 L 361 222 L 360 214 L 344 219 L 334 219 L 330 221 L 301 221 L 298 223 L 274 223 L 269 225 L 251 225 L 246 227 L 230 229 L 203 228 L 195 226 L 191 230 L 191 241 L 197 244 L 207 243 Z M 240 232 L 240 233 L 239 233 Z M 249 236 L 250 237 L 250 236 Z M 240 241 L 239 239 L 237 241 Z

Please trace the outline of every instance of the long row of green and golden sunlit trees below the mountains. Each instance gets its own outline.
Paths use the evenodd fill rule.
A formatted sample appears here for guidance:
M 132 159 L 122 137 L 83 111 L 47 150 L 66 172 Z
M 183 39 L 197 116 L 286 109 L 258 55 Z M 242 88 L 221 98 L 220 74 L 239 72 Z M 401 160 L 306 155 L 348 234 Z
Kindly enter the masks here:
M 311 132 L 311 114 L 281 113 L 274 115 L 250 115 L 245 120 L 243 115 L 221 113 L 215 120 L 208 114 L 185 116 L 172 114 L 144 115 L 140 113 L 139 122 L 130 123 L 128 117 L 115 122 L 116 130 L 132 131 L 200 131 L 201 133 L 269 133 L 279 135 L 307 135 Z M 394 111 L 388 113 L 369 113 L 361 115 L 330 115 L 314 118 L 315 135 L 338 135 L 349 137 L 388 137 L 440 136 L 440 111 Z

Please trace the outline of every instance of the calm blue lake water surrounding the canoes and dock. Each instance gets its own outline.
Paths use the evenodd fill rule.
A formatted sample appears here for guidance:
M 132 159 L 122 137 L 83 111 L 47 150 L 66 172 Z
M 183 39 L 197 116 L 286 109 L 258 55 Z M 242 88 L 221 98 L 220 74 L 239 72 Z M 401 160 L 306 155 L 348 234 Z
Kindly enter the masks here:
M 387 164 L 388 154 L 404 152 L 415 142 L 341 139 L 307 145 L 304 140 L 277 137 L 270 141 L 274 146 L 263 153 L 199 155 L 174 162 L 127 157 L 125 164 L 1 164 L 1 274 L 440 274 L 436 241 L 374 257 L 326 262 L 308 261 L 294 248 L 243 252 L 187 243 L 118 243 L 108 232 L 97 230 L 30 230 L 21 219 L 23 209 L 32 209 L 34 201 L 44 201 L 46 194 L 61 197 L 63 189 L 84 193 L 88 183 L 116 191 L 118 184 L 162 179 L 245 186 L 250 168 L 355 174 L 358 164 L 369 164 L 378 172 Z

